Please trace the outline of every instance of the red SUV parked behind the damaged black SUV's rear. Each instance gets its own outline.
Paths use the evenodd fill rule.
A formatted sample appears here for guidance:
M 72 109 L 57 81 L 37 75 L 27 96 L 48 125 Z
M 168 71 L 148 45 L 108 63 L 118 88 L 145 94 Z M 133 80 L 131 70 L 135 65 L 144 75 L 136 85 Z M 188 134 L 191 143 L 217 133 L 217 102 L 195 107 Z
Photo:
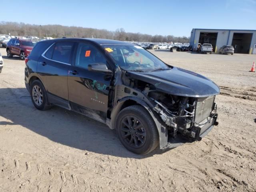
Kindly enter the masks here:
M 7 57 L 12 58 L 12 56 L 17 55 L 25 60 L 34 46 L 35 43 L 30 40 L 10 39 L 6 47 Z

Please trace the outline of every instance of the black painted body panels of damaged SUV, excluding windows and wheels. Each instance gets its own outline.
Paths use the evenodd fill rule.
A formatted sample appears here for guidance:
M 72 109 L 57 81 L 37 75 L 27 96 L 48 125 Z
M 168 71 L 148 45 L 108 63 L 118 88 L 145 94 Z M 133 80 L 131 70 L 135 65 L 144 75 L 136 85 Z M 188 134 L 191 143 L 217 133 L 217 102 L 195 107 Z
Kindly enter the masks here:
M 108 68 L 112 74 L 88 71 L 74 66 L 74 52 L 71 64 L 63 65 L 47 60 L 40 56 L 51 44 L 62 41 L 87 42 L 93 44 L 106 57 Z M 41 42 L 38 42 L 40 44 Z M 124 92 L 122 76 L 136 78 L 153 84 L 156 90 L 162 92 L 191 97 L 206 97 L 216 95 L 220 89 L 214 82 L 194 72 L 172 67 L 170 70 L 156 72 L 129 72 L 122 70 L 101 45 L 132 45 L 126 42 L 104 39 L 56 39 L 43 42 L 43 50 L 38 50 L 39 59 L 34 57 L 34 50 L 28 56 L 25 68 L 25 84 L 30 90 L 30 80 L 38 78 L 44 84 L 50 103 L 74 110 L 96 120 L 106 123 L 114 129 L 115 120 L 122 104 L 134 101 L 148 110 L 156 123 L 160 137 L 160 148 L 168 146 L 168 131 L 161 122 L 160 117 L 152 110 L 152 102 L 146 95 L 136 89 L 130 88 L 131 93 Z M 76 44 L 75 47 L 76 48 Z M 34 58 L 33 58 L 34 57 Z M 33 59 L 32 59 L 33 58 Z M 44 68 L 48 68 L 47 70 Z M 61 68 L 61 69 L 60 69 Z M 76 73 L 73 73 L 76 71 Z M 104 87 L 104 88 L 103 88 Z M 136 93 L 136 94 L 135 94 Z

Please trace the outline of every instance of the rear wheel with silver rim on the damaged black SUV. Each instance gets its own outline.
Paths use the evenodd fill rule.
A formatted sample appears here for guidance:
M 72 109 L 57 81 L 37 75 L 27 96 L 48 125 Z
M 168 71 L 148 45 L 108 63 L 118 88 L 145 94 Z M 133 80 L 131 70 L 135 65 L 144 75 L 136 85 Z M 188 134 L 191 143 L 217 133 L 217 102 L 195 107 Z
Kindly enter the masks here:
M 46 90 L 40 80 L 34 80 L 30 86 L 30 96 L 32 103 L 38 110 L 47 110 L 50 108 Z

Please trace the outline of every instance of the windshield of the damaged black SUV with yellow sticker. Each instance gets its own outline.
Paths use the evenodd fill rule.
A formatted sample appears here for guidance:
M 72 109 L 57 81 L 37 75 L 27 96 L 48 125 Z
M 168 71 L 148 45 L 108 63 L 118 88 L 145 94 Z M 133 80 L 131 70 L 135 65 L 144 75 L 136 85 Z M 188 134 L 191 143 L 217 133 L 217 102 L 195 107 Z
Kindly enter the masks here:
M 124 70 L 150 72 L 169 69 L 164 62 L 140 46 L 104 45 L 103 48 L 112 56 L 116 65 Z

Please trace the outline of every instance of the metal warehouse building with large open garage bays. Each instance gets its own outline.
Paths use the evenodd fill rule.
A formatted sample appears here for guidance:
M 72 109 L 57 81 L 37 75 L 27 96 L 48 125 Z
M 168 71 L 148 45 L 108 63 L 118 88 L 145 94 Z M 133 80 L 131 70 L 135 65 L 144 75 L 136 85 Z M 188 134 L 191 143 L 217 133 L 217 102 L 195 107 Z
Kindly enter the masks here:
M 223 45 L 232 45 L 235 53 L 256 54 L 256 30 L 192 29 L 190 45 L 193 51 L 198 43 L 212 44 L 217 53 Z

